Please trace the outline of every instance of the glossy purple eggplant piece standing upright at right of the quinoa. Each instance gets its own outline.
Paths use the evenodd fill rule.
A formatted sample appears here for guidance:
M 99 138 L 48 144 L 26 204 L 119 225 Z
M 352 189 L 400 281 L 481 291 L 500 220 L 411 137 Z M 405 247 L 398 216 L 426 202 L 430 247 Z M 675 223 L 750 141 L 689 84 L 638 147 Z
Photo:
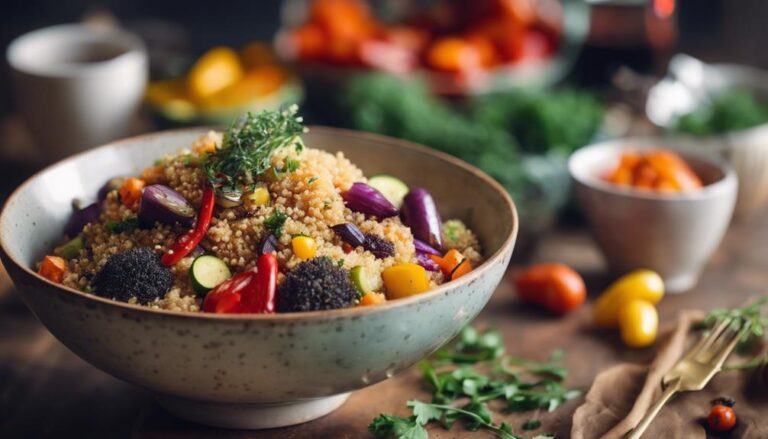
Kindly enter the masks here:
M 400 214 L 414 238 L 437 250 L 443 247 L 443 221 L 426 189 L 411 189 L 403 199 Z

